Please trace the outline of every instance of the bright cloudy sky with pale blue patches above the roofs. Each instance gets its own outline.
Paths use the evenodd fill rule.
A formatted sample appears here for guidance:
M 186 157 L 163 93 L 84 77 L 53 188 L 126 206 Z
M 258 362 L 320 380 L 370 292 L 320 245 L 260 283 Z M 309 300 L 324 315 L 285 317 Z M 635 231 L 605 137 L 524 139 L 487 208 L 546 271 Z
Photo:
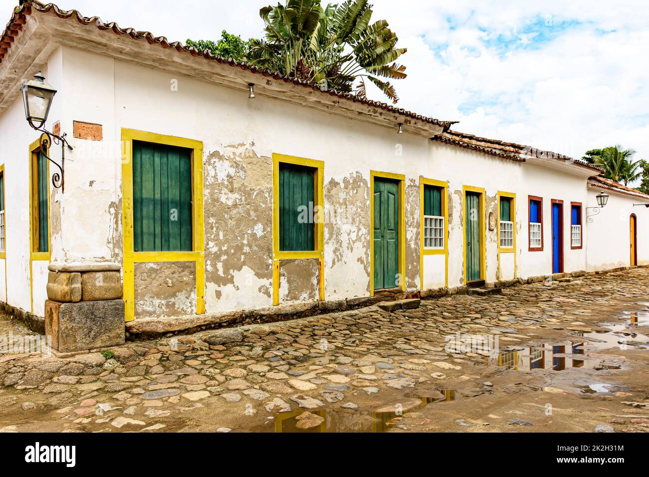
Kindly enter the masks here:
M 55 3 L 184 41 L 215 40 L 223 29 L 244 38 L 260 36 L 258 10 L 268 2 Z M 573 157 L 620 143 L 636 149 L 637 159 L 649 160 L 649 16 L 643 1 L 373 4 L 373 18 L 387 19 L 399 45 L 408 47 L 400 58 L 408 79 L 395 82 L 399 106 L 460 121 L 456 130 Z M 377 91 L 371 97 L 384 101 Z

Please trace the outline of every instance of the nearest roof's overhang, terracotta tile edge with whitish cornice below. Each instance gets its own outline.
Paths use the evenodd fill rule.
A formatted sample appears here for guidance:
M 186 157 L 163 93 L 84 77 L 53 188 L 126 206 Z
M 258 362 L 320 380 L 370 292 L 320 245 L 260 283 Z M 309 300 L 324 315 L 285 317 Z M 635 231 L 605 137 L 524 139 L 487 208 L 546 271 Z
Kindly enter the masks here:
M 405 134 L 430 138 L 453 123 L 349 93 L 323 92 L 308 82 L 262 71 L 232 58 L 199 53 L 149 32 L 121 29 L 116 23 L 103 23 L 96 17 L 84 18 L 76 10 L 64 11 L 36 1 L 25 2 L 14 12 L 3 36 L 10 45 L 0 58 L 0 114 L 16 100 L 21 83 L 43 69 L 58 47 L 66 46 L 194 77 L 239 90 L 242 95 L 247 94 L 247 85 L 252 82 L 256 84 L 258 96 L 394 128 L 395 134 L 398 124 L 402 124 Z

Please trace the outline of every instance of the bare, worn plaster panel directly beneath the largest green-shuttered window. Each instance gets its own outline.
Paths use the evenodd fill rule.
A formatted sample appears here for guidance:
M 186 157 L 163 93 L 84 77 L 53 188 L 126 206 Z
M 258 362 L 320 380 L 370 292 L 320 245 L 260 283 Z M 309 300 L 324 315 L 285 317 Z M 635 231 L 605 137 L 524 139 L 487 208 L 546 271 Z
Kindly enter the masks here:
M 194 262 L 136 263 L 135 315 L 177 317 L 196 313 Z

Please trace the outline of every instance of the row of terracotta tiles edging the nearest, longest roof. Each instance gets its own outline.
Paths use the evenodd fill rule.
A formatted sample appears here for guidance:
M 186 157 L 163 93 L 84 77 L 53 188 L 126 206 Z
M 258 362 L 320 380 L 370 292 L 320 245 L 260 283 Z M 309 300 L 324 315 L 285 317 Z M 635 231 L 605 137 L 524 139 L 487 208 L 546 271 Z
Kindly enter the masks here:
M 128 35 L 133 40 L 146 40 L 149 44 L 155 45 L 158 44 L 163 48 L 173 48 L 180 53 L 189 53 L 191 56 L 202 56 L 206 60 L 214 60 L 220 64 L 226 64 L 232 67 L 239 67 L 243 70 L 251 71 L 251 73 L 260 74 L 265 77 L 273 77 L 275 80 L 283 80 L 284 82 L 291 82 L 297 86 L 304 86 L 304 88 L 311 88 L 312 90 L 319 91 L 323 94 L 328 94 L 330 96 L 338 97 L 339 99 L 346 99 L 348 101 L 353 101 L 354 103 L 361 103 L 372 108 L 379 108 L 387 112 L 394 114 L 400 114 L 404 117 L 409 117 L 411 119 L 416 119 L 418 121 L 423 121 L 424 123 L 429 123 L 435 126 L 440 126 L 443 128 L 449 128 L 451 125 L 457 123 L 458 121 L 440 121 L 434 117 L 422 116 L 421 114 L 416 114 L 410 111 L 407 111 L 403 108 L 395 108 L 387 103 L 381 103 L 379 101 L 373 101 L 371 99 L 364 99 L 354 95 L 352 93 L 343 93 L 337 92 L 336 90 L 321 90 L 320 86 L 313 82 L 308 82 L 305 80 L 300 80 L 295 77 L 289 77 L 287 75 L 282 75 L 277 71 L 271 71 L 269 69 L 262 69 L 257 66 L 247 64 L 245 62 L 238 62 L 234 58 L 225 58 L 220 55 L 212 55 L 208 51 L 199 51 L 195 47 L 186 47 L 180 42 L 169 42 L 164 36 L 154 36 L 151 32 L 147 31 L 136 31 L 132 28 L 121 28 L 117 23 L 111 21 L 110 23 L 104 23 L 97 16 L 93 17 L 84 17 L 77 10 L 62 10 L 53 3 L 48 3 L 47 5 L 40 3 L 37 0 L 22 0 L 21 5 L 17 9 L 18 11 L 14 12 L 12 19 L 9 21 L 5 32 L 2 36 L 2 42 L 10 43 L 13 41 L 13 36 L 10 35 L 11 31 L 19 31 L 19 26 L 25 23 L 25 19 L 28 16 L 33 14 L 33 11 L 40 12 L 43 14 L 53 13 L 58 18 L 61 19 L 75 19 L 82 25 L 94 24 L 95 27 L 99 30 L 112 31 L 117 35 Z M 5 57 L 9 46 L 3 47 L 0 46 L 0 63 Z

